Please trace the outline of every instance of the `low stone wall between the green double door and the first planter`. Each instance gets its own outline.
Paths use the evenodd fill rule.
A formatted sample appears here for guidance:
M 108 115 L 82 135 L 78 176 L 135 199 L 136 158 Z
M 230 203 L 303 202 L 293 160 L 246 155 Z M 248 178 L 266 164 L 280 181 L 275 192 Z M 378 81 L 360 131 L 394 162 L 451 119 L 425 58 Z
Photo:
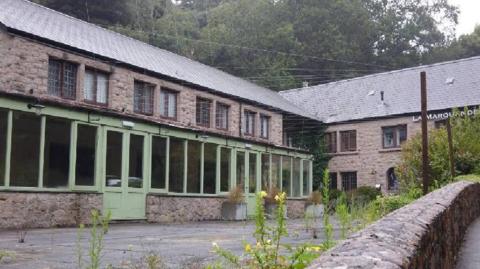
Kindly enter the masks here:
M 221 220 L 222 197 L 172 197 L 149 194 L 147 221 L 170 223 Z

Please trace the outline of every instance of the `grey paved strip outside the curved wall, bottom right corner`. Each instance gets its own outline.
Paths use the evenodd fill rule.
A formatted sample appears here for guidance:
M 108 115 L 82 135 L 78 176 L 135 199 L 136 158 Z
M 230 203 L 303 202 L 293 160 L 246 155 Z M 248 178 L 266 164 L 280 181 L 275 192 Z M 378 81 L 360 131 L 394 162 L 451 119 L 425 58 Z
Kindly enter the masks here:
M 477 218 L 468 228 L 465 241 L 460 250 L 457 269 L 480 268 L 480 218 Z

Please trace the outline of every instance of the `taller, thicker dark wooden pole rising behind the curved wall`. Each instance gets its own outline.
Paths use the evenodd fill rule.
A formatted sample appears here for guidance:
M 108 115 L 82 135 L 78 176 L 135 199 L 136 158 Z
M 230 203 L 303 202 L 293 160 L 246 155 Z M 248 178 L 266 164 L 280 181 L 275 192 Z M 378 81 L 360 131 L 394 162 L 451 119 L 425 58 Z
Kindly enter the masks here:
M 428 161 L 428 127 L 427 127 L 427 74 L 420 73 L 420 95 L 422 107 L 422 182 L 423 194 L 428 193 L 430 185 Z

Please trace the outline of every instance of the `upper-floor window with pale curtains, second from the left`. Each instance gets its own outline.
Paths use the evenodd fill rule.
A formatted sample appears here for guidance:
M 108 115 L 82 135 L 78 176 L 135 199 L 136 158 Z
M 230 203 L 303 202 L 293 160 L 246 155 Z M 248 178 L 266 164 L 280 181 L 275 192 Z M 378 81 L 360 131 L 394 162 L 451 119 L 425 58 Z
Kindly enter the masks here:
M 87 102 L 106 105 L 108 99 L 108 74 L 97 70 L 85 70 L 83 98 Z

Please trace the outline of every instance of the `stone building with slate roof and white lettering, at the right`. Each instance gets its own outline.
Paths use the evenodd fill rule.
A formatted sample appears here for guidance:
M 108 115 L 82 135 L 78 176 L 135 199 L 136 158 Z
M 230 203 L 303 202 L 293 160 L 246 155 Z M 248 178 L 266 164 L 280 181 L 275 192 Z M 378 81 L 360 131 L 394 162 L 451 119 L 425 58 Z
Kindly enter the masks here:
M 333 188 L 398 187 L 401 144 L 421 131 L 420 72 L 427 73 L 428 126 L 452 108 L 480 104 L 480 57 L 402 69 L 281 92 L 325 122 Z

